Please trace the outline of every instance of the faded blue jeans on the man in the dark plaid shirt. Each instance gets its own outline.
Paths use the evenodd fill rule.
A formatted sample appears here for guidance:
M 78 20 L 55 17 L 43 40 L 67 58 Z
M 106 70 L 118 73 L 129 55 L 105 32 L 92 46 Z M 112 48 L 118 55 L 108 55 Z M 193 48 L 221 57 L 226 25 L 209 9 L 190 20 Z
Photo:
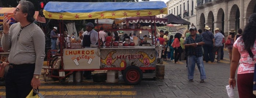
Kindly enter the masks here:
M 188 79 L 194 79 L 194 70 L 195 66 L 200 72 L 200 79 L 206 79 L 205 71 L 204 71 L 204 63 L 203 63 L 203 56 L 196 57 L 194 55 L 188 56 Z

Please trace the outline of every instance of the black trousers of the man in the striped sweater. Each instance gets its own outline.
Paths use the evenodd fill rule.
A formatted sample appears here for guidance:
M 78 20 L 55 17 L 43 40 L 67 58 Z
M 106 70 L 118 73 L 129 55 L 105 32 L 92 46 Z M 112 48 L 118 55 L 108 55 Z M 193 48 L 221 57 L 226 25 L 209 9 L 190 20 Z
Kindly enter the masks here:
M 26 98 L 33 88 L 31 80 L 34 75 L 35 64 L 13 66 L 8 70 L 5 80 L 6 98 Z

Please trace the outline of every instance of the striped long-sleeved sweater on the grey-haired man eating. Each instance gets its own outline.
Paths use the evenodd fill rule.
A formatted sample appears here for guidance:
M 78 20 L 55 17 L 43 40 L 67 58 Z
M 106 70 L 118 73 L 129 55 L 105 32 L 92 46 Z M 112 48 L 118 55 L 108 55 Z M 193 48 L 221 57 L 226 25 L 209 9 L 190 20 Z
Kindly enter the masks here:
M 45 35 L 35 23 L 23 28 L 21 24 L 11 25 L 9 33 L 3 34 L 2 48 L 6 52 L 10 50 L 9 63 L 35 64 L 35 75 L 41 75 L 41 69 L 45 57 Z

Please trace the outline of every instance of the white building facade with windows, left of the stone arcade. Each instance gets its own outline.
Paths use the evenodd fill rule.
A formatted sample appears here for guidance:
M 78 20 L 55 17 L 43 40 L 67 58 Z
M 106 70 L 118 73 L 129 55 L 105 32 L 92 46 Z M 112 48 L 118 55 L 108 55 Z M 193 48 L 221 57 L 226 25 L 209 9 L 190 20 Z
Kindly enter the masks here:
M 180 16 L 190 22 L 190 26 L 197 25 L 196 0 L 169 0 L 167 1 L 168 14 Z

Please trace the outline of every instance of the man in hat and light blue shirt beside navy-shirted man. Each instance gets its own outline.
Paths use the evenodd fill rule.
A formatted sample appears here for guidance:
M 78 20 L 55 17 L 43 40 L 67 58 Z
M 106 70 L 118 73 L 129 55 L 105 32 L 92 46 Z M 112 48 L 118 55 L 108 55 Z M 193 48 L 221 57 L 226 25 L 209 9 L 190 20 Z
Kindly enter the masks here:
M 223 35 L 220 33 L 220 30 L 218 27 L 215 28 L 215 35 L 214 35 L 214 39 L 215 39 L 215 44 L 212 50 L 212 53 L 215 54 L 215 52 L 217 52 L 217 63 L 220 62 L 220 55 L 221 55 L 221 47 L 222 47 L 222 39 L 223 39 Z M 215 58 L 215 55 L 212 55 L 213 58 Z

